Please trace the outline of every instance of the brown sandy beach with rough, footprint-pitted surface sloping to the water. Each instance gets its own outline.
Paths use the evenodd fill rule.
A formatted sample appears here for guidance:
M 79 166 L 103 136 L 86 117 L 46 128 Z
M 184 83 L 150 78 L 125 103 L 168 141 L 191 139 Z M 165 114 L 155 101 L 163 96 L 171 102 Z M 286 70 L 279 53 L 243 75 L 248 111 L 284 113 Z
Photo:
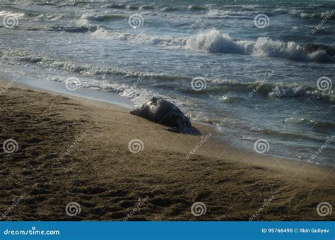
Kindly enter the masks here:
M 335 219 L 316 210 L 335 204 L 334 168 L 247 152 L 204 125 L 194 124 L 202 136 L 172 133 L 128 109 L 20 85 L 0 101 L 1 145 L 18 143 L 0 153 L 2 220 Z M 80 212 L 71 216 L 73 202 Z M 192 214 L 196 202 L 204 214 Z

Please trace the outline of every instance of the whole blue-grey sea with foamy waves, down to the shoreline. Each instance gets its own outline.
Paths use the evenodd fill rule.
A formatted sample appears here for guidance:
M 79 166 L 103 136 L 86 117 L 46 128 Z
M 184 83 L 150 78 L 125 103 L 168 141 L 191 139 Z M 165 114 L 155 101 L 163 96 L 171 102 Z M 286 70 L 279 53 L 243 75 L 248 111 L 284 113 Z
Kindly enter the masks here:
M 335 135 L 334 86 L 317 88 L 321 77 L 335 85 L 333 10 L 223 1 L 0 3 L 0 23 L 8 16 L 16 23 L 0 28 L 1 69 L 46 84 L 78 78 L 83 88 L 134 104 L 160 95 L 233 145 L 253 151 L 265 139 L 268 154 L 334 166 L 332 140 L 312 157 Z M 265 23 L 254 23 L 259 14 Z M 307 51 L 308 44 L 329 51 Z M 194 90 L 193 78 L 206 88 Z

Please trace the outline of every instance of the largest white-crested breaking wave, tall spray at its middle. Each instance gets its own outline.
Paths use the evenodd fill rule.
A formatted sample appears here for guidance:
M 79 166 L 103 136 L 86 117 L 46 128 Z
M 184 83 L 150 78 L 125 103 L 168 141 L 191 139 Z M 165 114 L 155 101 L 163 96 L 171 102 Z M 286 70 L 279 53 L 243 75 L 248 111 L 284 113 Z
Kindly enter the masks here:
M 228 34 L 218 32 L 218 30 L 201 32 L 192 37 L 170 37 L 136 35 L 126 32 L 114 32 L 107 28 L 98 28 L 92 35 L 139 44 L 179 47 L 199 52 L 269 56 L 296 61 L 333 62 L 335 54 L 335 50 L 327 46 L 281 42 L 280 40 L 271 40 L 269 37 L 259 37 L 256 41 L 233 40 Z

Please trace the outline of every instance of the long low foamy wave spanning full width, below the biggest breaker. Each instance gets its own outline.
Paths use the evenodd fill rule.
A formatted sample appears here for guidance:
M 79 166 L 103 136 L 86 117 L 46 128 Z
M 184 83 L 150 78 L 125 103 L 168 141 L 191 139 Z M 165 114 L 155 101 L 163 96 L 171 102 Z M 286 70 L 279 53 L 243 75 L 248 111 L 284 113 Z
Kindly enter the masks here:
M 165 83 L 173 83 L 175 80 L 183 80 L 184 83 L 189 84 L 192 78 L 188 76 L 170 76 L 164 73 L 151 73 L 143 71 L 131 71 L 125 68 L 109 68 L 101 66 L 93 66 L 91 64 L 75 64 L 71 61 L 64 61 L 56 59 L 51 56 L 44 56 L 34 52 L 27 52 L 20 49 L 2 49 L 0 50 L 0 57 L 5 56 L 4 61 L 23 61 L 30 64 L 37 64 L 45 68 L 57 68 L 63 71 L 71 71 L 74 73 L 82 73 L 86 76 L 108 76 L 117 75 L 122 78 L 145 78 L 161 80 Z M 175 88 L 175 87 L 174 87 Z M 257 89 L 256 92 L 252 92 Z M 176 88 L 176 90 L 178 90 Z M 188 88 L 181 87 L 179 91 L 189 93 L 192 95 L 221 95 L 225 92 L 241 92 L 242 94 L 260 95 L 262 97 L 281 97 L 281 98 L 301 98 L 307 97 L 315 100 L 322 100 L 331 104 L 335 103 L 335 92 L 333 90 L 320 91 L 312 85 L 302 85 L 299 83 L 273 83 L 264 81 L 246 82 L 241 83 L 236 80 L 219 80 L 208 79 L 208 88 L 199 92 L 194 92 Z M 223 101 L 235 101 L 236 99 L 229 100 L 222 99 Z

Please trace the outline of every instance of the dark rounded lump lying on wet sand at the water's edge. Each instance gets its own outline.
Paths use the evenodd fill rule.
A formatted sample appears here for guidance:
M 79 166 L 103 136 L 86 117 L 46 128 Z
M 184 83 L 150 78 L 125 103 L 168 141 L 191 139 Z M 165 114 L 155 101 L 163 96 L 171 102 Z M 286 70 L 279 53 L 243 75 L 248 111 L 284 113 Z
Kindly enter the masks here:
M 191 121 L 175 104 L 159 97 L 151 98 L 150 102 L 146 102 L 141 107 L 136 107 L 130 114 L 169 126 L 168 131 L 194 133 L 194 130 L 196 130 L 192 128 Z

